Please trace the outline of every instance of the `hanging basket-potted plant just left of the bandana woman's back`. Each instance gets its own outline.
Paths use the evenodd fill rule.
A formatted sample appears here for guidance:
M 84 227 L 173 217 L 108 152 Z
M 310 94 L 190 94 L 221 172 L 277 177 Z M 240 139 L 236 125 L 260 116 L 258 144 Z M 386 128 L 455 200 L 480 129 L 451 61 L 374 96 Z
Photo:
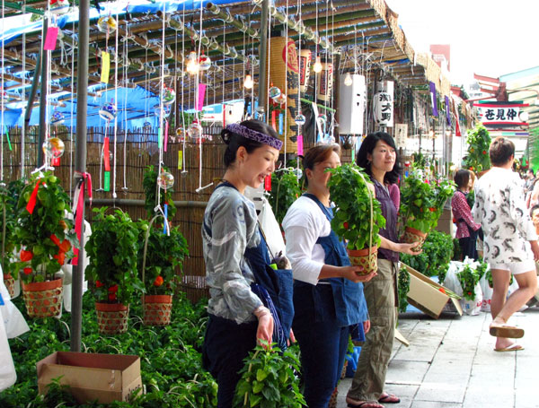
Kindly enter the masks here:
M 178 279 L 178 269 L 189 255 L 187 240 L 179 227 L 170 231 L 155 227 L 154 221 L 138 221 L 144 239 L 138 251 L 138 265 L 146 294 L 142 296 L 144 324 L 166 326 L 171 322 L 172 294 Z

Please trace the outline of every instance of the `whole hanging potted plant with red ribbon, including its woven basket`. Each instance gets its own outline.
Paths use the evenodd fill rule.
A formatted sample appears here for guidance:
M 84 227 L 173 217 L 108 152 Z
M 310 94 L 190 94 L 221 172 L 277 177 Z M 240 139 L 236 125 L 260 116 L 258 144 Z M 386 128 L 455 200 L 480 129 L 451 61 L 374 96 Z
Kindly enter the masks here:
M 22 295 L 30 317 L 61 312 L 62 279 L 55 274 L 73 257 L 77 245 L 75 233 L 68 232 L 73 227 L 66 218 L 70 211 L 69 196 L 51 172 L 33 174 L 22 189 L 12 236 L 19 260 L 10 271 L 22 272 Z

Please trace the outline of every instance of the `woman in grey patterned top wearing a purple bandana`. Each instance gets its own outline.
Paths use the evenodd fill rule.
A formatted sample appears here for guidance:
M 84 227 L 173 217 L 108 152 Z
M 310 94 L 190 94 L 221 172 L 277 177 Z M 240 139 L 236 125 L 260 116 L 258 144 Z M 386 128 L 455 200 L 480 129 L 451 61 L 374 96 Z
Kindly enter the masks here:
M 232 407 L 243 359 L 259 341 L 286 344 L 291 317 L 285 302 L 268 299 L 275 293 L 265 284 L 273 271 L 269 251 L 254 204 L 243 195 L 245 187 L 260 187 L 273 172 L 282 142 L 258 120 L 226 126 L 221 137 L 225 176 L 208 201 L 202 226 L 210 294 L 203 364 L 216 378 L 217 407 L 225 408 Z

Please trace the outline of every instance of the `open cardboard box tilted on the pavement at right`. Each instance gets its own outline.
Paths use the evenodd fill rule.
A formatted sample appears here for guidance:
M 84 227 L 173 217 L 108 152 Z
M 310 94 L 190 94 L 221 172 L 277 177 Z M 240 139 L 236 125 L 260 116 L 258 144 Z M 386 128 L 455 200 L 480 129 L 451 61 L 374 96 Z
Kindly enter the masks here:
M 401 263 L 402 264 L 402 263 Z M 412 267 L 402 264 L 410 273 L 410 291 L 408 292 L 408 302 L 419 308 L 423 313 L 433 318 L 440 317 L 442 310 L 447 302 L 453 304 L 456 312 L 463 316 L 463 308 L 461 308 L 459 299 L 450 298 L 445 292 L 449 291 L 437 282 L 432 281 L 427 276 L 419 273 Z

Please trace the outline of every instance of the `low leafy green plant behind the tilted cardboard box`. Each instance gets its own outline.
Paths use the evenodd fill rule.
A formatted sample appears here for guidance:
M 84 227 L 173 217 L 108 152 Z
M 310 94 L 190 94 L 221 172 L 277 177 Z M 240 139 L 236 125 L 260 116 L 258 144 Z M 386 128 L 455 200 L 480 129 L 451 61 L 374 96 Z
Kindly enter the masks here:
M 426 276 L 437 275 L 439 282 L 444 282 L 453 257 L 453 239 L 444 232 L 431 230 L 422 248 L 420 255 L 401 254 L 401 261 Z

